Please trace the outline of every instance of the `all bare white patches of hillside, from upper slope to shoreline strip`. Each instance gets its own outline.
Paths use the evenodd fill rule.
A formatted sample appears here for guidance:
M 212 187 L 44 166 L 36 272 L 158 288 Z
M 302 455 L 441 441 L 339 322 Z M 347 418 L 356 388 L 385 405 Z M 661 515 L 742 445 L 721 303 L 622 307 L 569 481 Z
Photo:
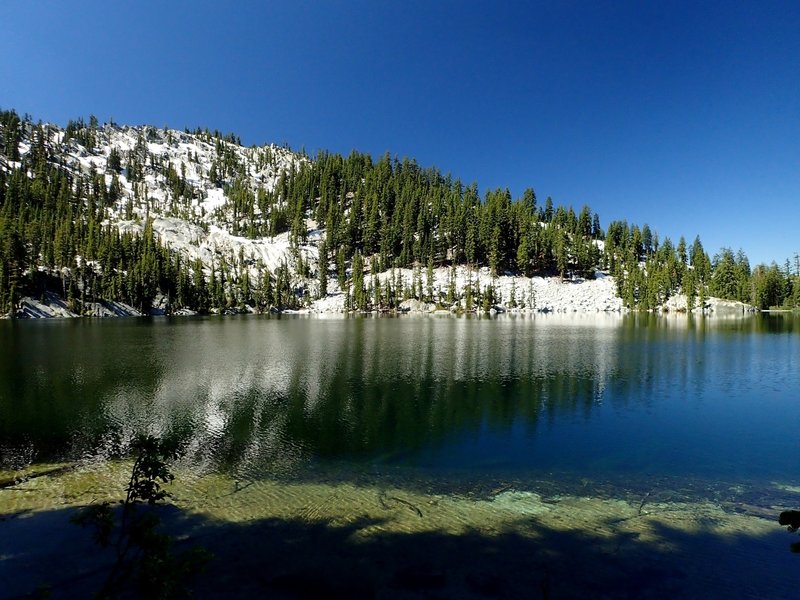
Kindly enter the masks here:
M 401 311 L 625 310 L 614 278 L 599 271 L 589 280 L 579 276 L 564 279 L 513 273 L 493 276 L 487 267 L 471 268 L 452 261 L 445 261 L 450 262 L 449 266 L 435 268 L 418 264 L 413 269 L 379 271 L 380 263 L 371 255 L 363 257 L 358 275 L 351 257 L 337 263 L 334 255 L 331 262 L 323 265 L 320 249 L 329 238 L 325 224 L 313 220 L 312 210 L 298 213 L 295 207 L 288 206 L 292 178 L 302 173 L 311 159 L 275 145 L 243 147 L 233 136 L 200 130 L 182 132 L 94 122 L 71 123 L 62 129 L 27 123 L 22 127 L 17 154 L 2 157 L 0 170 L 9 174 L 26 168 L 28 177 L 33 177 L 30 165 L 36 164 L 35 155 L 46 155 L 51 164 L 58 165 L 73 181 L 77 180 L 77 187 L 103 188 L 95 193 L 87 191 L 86 199 L 81 200 L 91 205 L 87 210 L 99 215 L 101 227 L 138 237 L 152 232 L 171 256 L 180 259 L 179 264 L 194 268 L 195 279 L 200 277 L 204 283 L 217 282 L 224 287 L 228 298 L 226 310 L 274 309 L 273 297 L 277 296 L 270 290 L 281 285 L 293 299 L 295 310 L 349 311 L 358 306 L 353 300 L 357 276 L 362 293 L 371 300 L 362 300 L 362 307 L 383 305 L 382 294 L 388 290 L 392 305 Z M 342 201 L 354 202 L 353 193 L 348 192 L 345 198 L 345 192 L 340 192 Z M 81 194 L 80 190 L 76 193 Z M 101 206 L 94 205 L 96 198 L 103 199 Z M 320 201 L 321 198 L 308 199 L 309 203 Z M 347 214 L 351 207 L 342 210 Z M 290 223 L 292 214 L 295 217 Z M 298 214 L 303 218 L 298 220 Z M 548 226 L 541 224 L 543 230 Z M 596 252 L 602 254 L 603 242 L 592 243 Z M 87 266 L 101 269 L 99 261 L 83 261 L 80 256 L 75 257 L 73 264 L 61 265 L 48 265 L 40 257 L 36 269 L 63 276 Z M 321 268 L 325 269 L 324 274 Z M 79 287 L 83 293 L 87 286 L 82 279 Z M 162 292 L 156 290 L 152 302 L 144 309 L 146 312 L 190 312 Z M 47 290 L 38 298 L 23 298 L 16 306 L 16 314 L 24 317 L 139 314 L 141 307 L 137 309 L 117 300 L 84 300 L 76 308 L 74 303 L 67 306 L 58 291 Z M 278 307 L 285 308 L 280 304 Z M 665 308 L 682 311 L 686 310 L 686 303 L 681 305 L 673 299 Z

